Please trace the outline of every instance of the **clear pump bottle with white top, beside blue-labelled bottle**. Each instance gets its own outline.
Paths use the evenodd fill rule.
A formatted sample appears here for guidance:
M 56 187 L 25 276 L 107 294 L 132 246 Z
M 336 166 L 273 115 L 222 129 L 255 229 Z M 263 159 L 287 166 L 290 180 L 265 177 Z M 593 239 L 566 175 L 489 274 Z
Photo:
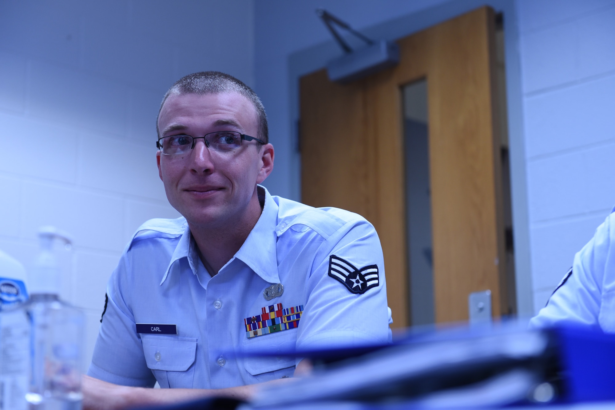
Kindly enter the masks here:
M 80 410 L 84 314 L 59 298 L 60 271 L 54 241 L 69 246 L 68 234 L 52 226 L 39 230 L 41 252 L 29 280 L 30 300 L 23 305 L 31 322 L 29 409 Z

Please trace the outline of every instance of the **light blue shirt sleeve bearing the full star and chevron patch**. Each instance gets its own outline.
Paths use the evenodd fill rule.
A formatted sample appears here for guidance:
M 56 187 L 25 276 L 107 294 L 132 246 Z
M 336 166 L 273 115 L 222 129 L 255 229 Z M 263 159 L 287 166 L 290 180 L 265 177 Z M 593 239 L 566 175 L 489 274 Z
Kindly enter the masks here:
M 391 341 L 383 252 L 370 223 L 349 222 L 323 242 L 305 300 L 297 349 Z

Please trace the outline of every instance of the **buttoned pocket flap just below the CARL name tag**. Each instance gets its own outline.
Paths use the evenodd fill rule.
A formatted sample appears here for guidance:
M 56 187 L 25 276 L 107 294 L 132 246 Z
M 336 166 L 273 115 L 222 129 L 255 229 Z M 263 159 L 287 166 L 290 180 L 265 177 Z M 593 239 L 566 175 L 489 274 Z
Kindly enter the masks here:
M 141 336 L 143 354 L 153 370 L 186 371 L 196 358 L 196 339 Z

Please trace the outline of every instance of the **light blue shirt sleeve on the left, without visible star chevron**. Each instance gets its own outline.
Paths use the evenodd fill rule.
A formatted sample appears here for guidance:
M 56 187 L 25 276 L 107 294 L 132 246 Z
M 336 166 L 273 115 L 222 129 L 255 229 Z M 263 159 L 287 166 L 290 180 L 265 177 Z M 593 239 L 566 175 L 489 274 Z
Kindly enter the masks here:
M 146 365 L 135 319 L 122 295 L 131 286 L 129 273 L 129 254 L 124 252 L 109 278 L 107 308 L 87 374 L 114 384 L 152 387 L 156 379 Z

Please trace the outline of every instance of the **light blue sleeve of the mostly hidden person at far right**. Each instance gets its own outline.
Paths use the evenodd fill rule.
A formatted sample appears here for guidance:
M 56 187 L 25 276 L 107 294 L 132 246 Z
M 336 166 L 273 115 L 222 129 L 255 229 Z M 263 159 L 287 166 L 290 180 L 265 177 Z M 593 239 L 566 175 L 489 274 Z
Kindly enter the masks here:
M 547 305 L 530 320 L 530 327 L 549 327 L 561 322 L 598 325 L 611 242 L 610 218 L 598 227 L 593 238 L 574 256 L 571 272 L 560 282 Z

